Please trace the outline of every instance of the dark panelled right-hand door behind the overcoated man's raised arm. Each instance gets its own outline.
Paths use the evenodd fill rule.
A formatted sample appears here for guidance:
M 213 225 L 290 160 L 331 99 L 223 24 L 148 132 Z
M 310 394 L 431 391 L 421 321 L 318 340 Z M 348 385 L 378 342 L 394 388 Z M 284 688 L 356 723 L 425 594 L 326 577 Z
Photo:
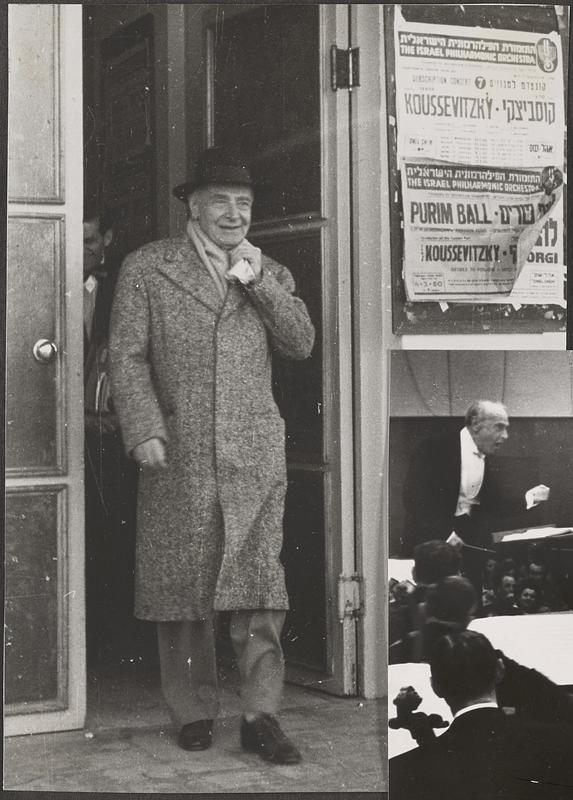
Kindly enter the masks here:
M 194 19 L 191 20 L 191 23 Z M 348 45 L 346 6 L 218 5 L 205 12 L 210 145 L 240 145 L 255 180 L 249 239 L 293 273 L 317 336 L 306 362 L 277 361 L 286 420 L 288 676 L 356 693 L 356 621 L 339 618 L 355 571 L 347 93 L 330 48 Z

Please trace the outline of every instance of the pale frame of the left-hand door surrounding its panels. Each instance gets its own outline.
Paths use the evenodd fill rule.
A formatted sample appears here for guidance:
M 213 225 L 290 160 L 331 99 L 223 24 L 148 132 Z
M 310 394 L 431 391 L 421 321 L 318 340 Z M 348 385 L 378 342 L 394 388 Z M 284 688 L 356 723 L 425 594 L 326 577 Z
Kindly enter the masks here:
M 33 8 L 29 6 L 29 8 Z M 58 342 L 62 368 L 65 450 L 64 474 L 10 476 L 7 491 L 61 490 L 58 557 L 61 559 L 58 620 L 63 638 L 61 671 L 67 689 L 66 708 L 5 716 L 5 736 L 82 728 L 86 709 L 84 610 L 84 490 L 83 490 L 83 138 L 82 120 L 82 7 L 54 5 L 55 81 L 59 93 L 61 198 L 48 202 L 8 202 L 9 217 L 50 217 L 62 220 L 64 298 L 62 340 Z M 8 30 L 9 34 L 9 30 Z M 10 144 L 10 143 L 9 143 Z M 7 331 L 7 335 L 10 332 Z M 65 587 L 65 591 L 64 591 Z M 19 706 L 20 708 L 21 706 Z

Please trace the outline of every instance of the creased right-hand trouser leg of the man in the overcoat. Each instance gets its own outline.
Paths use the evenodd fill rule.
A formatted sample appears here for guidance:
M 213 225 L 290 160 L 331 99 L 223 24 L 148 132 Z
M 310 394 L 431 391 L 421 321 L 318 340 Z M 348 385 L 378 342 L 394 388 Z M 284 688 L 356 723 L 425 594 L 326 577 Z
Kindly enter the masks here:
M 276 714 L 284 682 L 281 631 L 286 612 L 234 611 L 231 641 L 241 677 L 243 714 Z

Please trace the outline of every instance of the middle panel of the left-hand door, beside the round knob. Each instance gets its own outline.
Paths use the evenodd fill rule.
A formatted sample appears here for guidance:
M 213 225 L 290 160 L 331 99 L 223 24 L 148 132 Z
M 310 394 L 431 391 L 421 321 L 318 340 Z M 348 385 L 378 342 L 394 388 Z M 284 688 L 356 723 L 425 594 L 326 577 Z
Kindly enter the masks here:
M 12 217 L 8 222 L 6 467 L 19 474 L 64 468 L 61 361 L 33 356 L 41 339 L 61 341 L 62 225 L 61 218 Z

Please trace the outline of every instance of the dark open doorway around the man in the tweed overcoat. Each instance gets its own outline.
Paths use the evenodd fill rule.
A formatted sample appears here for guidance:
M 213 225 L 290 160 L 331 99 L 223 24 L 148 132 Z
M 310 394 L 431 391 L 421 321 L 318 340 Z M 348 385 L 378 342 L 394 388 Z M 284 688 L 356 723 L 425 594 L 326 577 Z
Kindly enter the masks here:
M 317 330 L 312 357 L 277 363 L 274 374 L 289 478 L 283 647 L 290 679 L 356 694 L 356 619 L 338 619 L 339 577 L 354 573 L 355 548 L 351 512 L 342 508 L 352 505 L 352 468 L 342 454 L 345 442 L 351 452 L 352 423 L 344 425 L 340 372 L 351 356 L 341 354 L 345 323 L 337 317 L 347 298 L 341 302 L 332 250 L 341 239 L 332 158 L 325 171 L 336 108 L 335 96 L 325 100 L 320 43 L 331 15 L 319 6 L 205 4 L 192 12 L 175 4 L 83 6 L 85 187 L 111 212 L 117 272 L 128 252 L 183 230 L 171 186 L 205 146 L 238 138 L 254 172 L 274 184 L 249 238 L 291 270 Z M 153 673 L 155 626 L 132 617 L 137 475 L 117 443 L 105 450 L 96 444 L 86 462 L 99 470 L 95 506 L 108 481 L 113 505 L 102 525 L 86 516 L 88 667 Z M 104 534 L 106 522 L 116 531 Z M 223 651 L 225 638 L 222 619 Z

